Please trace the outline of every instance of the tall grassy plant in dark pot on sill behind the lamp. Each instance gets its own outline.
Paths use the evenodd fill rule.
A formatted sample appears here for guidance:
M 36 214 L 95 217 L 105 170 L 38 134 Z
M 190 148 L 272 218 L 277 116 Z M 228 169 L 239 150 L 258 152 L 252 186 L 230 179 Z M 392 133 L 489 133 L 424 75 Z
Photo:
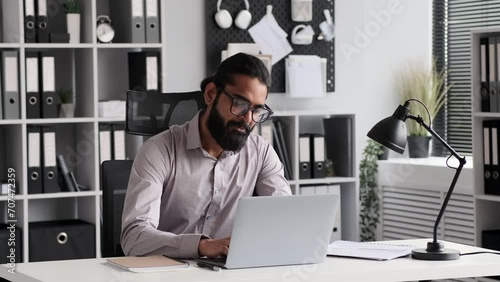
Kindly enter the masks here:
M 437 71 L 433 64 L 431 69 L 420 66 L 410 66 L 401 72 L 398 79 L 398 91 L 400 102 L 403 104 L 409 99 L 422 102 L 427 109 L 419 103 L 410 104 L 410 113 L 419 115 L 424 122 L 432 126 L 432 120 L 446 103 L 446 93 L 450 86 L 445 85 L 446 73 Z M 406 123 L 408 131 L 408 151 L 410 158 L 426 158 L 429 156 L 429 136 L 427 130 L 413 120 Z

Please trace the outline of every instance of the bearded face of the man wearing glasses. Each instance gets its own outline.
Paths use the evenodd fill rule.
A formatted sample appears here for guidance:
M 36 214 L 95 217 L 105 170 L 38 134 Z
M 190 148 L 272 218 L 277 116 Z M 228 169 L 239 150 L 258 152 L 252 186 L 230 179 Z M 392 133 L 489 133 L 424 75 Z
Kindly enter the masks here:
M 267 87 L 256 78 L 236 75 L 234 85 L 226 85 L 227 94 L 219 92 L 207 119 L 207 128 L 217 144 L 228 151 L 238 151 L 245 145 L 248 135 L 255 127 L 252 111 L 243 116 L 231 112 L 235 97 L 248 102 L 252 107 L 261 106 L 267 97 Z

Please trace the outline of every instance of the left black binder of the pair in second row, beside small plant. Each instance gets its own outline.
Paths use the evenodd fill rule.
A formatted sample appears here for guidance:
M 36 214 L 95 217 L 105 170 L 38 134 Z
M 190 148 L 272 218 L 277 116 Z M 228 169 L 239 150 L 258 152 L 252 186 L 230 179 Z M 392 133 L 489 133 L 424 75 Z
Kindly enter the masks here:
M 38 52 L 26 53 L 26 117 L 41 118 Z

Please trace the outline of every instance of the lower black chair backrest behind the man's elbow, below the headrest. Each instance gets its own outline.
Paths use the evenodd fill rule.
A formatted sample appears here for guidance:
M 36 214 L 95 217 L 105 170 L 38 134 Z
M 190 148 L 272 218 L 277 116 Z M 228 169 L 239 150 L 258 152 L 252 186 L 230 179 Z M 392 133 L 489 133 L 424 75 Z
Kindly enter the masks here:
M 133 160 L 104 161 L 101 165 L 103 257 L 123 256 L 120 245 L 123 204 Z

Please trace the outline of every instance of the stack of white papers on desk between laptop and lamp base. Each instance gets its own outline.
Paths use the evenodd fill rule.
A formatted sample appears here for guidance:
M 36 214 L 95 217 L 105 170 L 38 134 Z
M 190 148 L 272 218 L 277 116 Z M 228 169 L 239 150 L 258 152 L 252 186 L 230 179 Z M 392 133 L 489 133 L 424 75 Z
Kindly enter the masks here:
M 412 245 L 335 241 L 328 246 L 328 256 L 390 260 L 411 254 Z

